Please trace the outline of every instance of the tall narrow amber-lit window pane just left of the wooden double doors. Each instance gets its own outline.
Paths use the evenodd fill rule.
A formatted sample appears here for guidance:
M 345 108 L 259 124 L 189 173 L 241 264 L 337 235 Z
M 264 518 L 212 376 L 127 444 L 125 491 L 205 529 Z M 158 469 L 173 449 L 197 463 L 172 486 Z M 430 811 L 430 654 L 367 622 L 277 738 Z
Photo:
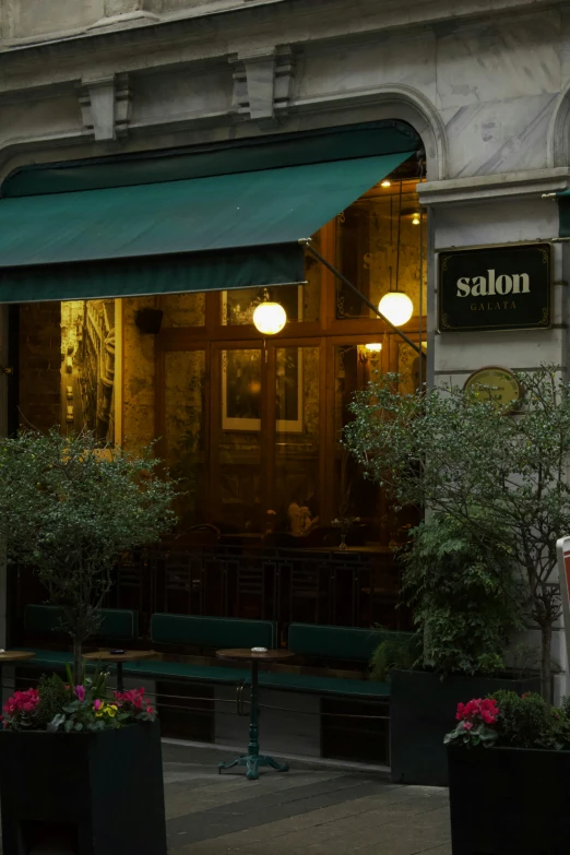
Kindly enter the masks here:
M 203 351 L 165 353 L 166 463 L 183 492 L 176 502 L 178 527 L 205 521 Z

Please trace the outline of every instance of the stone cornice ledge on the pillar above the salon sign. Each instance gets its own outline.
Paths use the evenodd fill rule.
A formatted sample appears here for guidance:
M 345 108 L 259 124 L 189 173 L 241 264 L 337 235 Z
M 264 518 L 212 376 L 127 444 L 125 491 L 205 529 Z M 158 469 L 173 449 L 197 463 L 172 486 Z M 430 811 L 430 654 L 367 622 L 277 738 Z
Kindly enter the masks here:
M 570 168 L 533 169 L 521 173 L 455 178 L 446 181 L 427 181 L 418 185 L 423 205 L 468 204 L 489 199 L 543 195 L 566 190 L 570 185 Z

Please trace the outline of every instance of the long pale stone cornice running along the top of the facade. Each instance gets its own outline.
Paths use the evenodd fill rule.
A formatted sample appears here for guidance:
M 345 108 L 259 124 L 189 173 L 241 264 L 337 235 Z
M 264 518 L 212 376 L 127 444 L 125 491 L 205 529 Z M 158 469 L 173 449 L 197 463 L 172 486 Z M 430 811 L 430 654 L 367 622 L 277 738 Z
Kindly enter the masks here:
M 499 15 L 520 15 L 542 9 L 558 9 L 568 0 L 359 0 L 356 5 L 346 0 L 240 0 L 227 3 L 204 3 L 176 14 L 155 14 L 151 19 L 123 16 L 97 22 L 92 27 L 66 33 L 37 36 L 28 39 L 0 39 L 2 63 L 29 63 L 52 55 L 84 58 L 86 43 L 92 51 L 144 50 L 152 45 L 173 47 L 189 35 L 200 32 L 201 38 L 214 35 L 233 39 L 248 39 L 251 44 L 275 38 L 280 43 L 296 44 L 359 39 L 363 36 L 394 29 L 414 29 L 426 26 L 455 26 L 460 22 L 476 21 Z M 258 21 L 251 28 L 251 16 Z M 227 32 L 223 22 L 227 22 Z M 244 25 L 244 26 L 242 26 Z M 205 27 L 205 29 L 204 29 Z M 206 39 L 207 40 L 207 39 Z M 145 59 L 149 57 L 145 55 Z

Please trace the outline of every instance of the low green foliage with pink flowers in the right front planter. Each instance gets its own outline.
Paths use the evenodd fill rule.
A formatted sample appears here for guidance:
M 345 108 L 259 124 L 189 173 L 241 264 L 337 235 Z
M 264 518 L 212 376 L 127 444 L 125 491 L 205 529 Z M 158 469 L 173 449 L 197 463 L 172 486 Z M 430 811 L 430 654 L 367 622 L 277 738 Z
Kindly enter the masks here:
M 446 745 L 570 750 L 568 698 L 557 710 L 539 694 L 501 690 L 483 701 L 460 703 L 455 719 L 458 725 L 446 736 Z

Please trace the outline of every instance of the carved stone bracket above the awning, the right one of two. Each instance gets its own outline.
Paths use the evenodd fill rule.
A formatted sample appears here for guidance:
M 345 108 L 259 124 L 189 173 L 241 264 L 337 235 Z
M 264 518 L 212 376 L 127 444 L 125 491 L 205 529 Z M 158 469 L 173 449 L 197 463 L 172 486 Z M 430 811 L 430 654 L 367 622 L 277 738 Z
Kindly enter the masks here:
M 268 120 L 288 107 L 294 80 L 289 47 L 261 48 L 233 54 L 234 109 L 250 119 Z

